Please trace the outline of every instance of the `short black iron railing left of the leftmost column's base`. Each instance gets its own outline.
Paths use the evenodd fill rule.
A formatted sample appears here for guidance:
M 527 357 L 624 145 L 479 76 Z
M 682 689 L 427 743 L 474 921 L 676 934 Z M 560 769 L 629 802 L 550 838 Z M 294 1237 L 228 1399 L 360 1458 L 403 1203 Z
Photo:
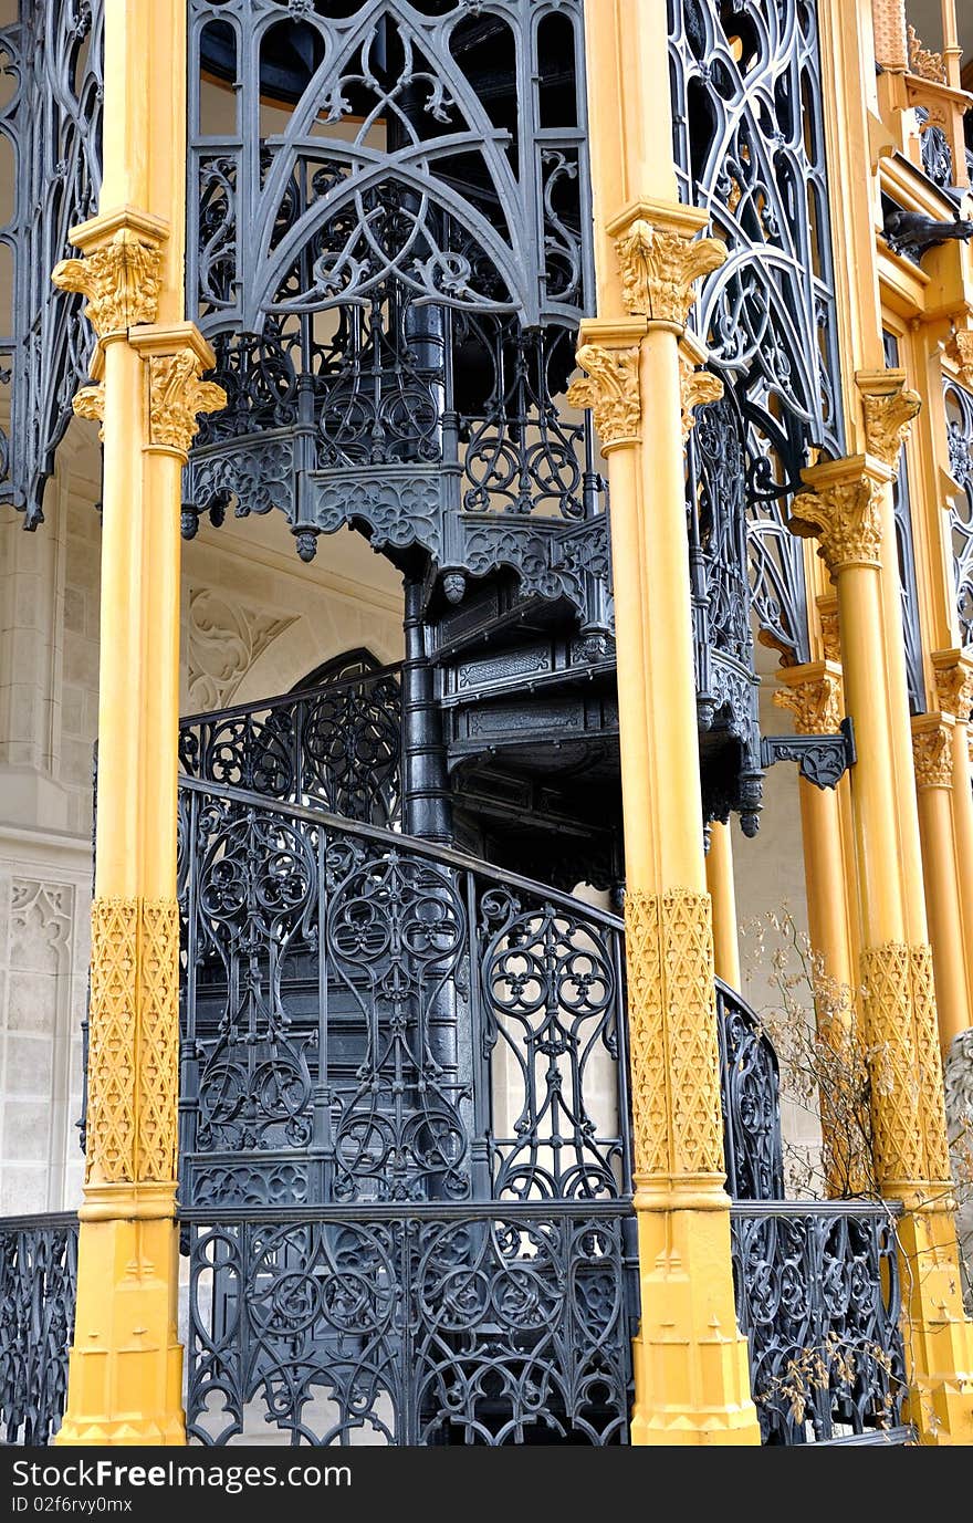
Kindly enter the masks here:
M 47 1444 L 61 1426 L 76 1288 L 76 1215 L 0 1218 L 0 1432 L 8 1444 Z

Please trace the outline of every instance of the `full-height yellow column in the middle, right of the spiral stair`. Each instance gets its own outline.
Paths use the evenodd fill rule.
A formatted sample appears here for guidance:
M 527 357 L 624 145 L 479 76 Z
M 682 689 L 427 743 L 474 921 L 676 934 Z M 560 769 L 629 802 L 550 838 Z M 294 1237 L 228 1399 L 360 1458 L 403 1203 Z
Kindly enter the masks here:
M 586 8 L 598 317 L 582 327 L 608 460 L 626 845 L 641 1327 L 633 1444 L 757 1444 L 723 1189 L 685 530 L 684 413 L 714 378 L 681 358 L 694 280 L 725 257 L 681 206 L 664 0 Z

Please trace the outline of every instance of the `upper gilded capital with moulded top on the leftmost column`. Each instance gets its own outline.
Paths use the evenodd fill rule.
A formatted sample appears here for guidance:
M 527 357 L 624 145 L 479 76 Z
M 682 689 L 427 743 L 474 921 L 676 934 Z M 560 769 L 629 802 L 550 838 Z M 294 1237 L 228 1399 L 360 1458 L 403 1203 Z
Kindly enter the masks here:
M 50 279 L 61 291 L 87 297 L 85 317 L 99 340 L 154 323 L 161 289 L 166 224 L 123 207 L 70 230 L 81 259 L 61 259 Z

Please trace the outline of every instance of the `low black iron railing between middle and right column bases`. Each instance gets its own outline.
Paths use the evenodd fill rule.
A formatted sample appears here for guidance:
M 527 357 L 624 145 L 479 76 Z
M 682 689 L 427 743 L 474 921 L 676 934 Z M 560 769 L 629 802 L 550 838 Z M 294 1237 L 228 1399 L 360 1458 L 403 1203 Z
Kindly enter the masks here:
M 731 1208 L 737 1320 L 764 1444 L 903 1442 L 895 1208 Z

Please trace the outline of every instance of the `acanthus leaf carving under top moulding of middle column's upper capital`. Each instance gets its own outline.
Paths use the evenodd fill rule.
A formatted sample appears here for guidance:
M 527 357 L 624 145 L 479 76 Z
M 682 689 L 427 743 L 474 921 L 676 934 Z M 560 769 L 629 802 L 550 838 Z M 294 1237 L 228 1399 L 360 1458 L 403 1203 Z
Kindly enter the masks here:
M 719 238 L 691 239 L 641 216 L 615 239 L 615 250 L 626 311 L 678 329 L 688 321 L 696 280 L 719 270 L 728 256 Z

